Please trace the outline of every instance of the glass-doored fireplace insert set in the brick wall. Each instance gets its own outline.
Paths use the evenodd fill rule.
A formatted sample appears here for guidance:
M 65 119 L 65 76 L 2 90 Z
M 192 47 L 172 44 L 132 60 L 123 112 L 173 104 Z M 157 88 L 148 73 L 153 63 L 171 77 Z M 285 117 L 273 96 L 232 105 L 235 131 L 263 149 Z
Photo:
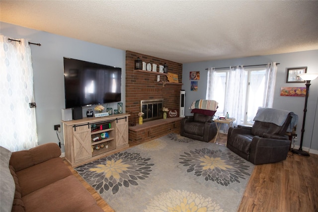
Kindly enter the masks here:
M 140 111 L 144 115 L 144 122 L 161 119 L 163 99 L 141 100 Z

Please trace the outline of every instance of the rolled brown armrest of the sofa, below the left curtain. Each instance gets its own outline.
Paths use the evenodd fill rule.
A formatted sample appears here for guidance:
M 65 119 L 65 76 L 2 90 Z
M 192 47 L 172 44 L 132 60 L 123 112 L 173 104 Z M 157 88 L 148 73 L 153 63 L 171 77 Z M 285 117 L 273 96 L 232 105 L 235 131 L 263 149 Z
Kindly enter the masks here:
M 57 143 L 45 143 L 29 150 L 12 152 L 9 164 L 15 171 L 20 171 L 60 155 L 61 149 Z

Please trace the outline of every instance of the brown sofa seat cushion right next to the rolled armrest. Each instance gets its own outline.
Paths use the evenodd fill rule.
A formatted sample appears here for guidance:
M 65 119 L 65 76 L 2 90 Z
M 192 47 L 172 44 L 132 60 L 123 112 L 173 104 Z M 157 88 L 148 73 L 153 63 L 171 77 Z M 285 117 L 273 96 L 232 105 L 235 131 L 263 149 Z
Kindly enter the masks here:
M 22 197 L 51 183 L 72 175 L 60 157 L 17 171 L 16 175 L 22 189 Z M 27 207 L 26 207 L 27 208 Z

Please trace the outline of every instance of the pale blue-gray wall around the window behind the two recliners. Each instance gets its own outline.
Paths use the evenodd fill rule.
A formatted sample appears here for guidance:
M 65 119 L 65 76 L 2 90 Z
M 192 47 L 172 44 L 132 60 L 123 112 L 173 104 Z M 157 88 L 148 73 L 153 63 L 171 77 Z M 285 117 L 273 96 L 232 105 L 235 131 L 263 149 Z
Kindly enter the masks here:
M 237 65 L 257 65 L 270 62 L 280 63 L 277 70 L 277 80 L 275 86 L 275 96 L 273 108 L 293 111 L 298 115 L 297 124 L 298 142 L 300 144 L 301 129 L 303 125 L 303 114 L 305 97 L 287 97 L 280 96 L 281 87 L 306 87 L 305 83 L 286 83 L 287 68 L 308 67 L 307 72 L 318 72 L 318 50 L 295 52 L 287 54 L 276 54 L 267 56 L 255 56 L 248 58 L 238 58 L 232 60 L 205 61 L 199 63 L 183 64 L 182 71 L 182 89 L 186 91 L 185 115 L 191 115 L 188 109 L 191 103 L 197 99 L 205 99 L 207 87 L 207 68 L 221 68 Z M 190 71 L 200 71 L 200 80 L 198 80 L 198 91 L 190 90 Z M 310 95 L 308 98 L 306 125 L 303 140 L 303 149 L 318 153 L 318 78 L 311 82 Z M 307 147 L 307 148 L 306 148 Z

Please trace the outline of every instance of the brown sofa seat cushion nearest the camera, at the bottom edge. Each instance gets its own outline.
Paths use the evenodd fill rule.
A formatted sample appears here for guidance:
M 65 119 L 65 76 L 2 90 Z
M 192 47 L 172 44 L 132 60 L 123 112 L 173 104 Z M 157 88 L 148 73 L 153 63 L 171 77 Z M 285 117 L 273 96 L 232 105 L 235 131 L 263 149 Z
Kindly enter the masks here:
M 96 201 L 73 175 L 34 191 L 22 200 L 30 212 L 80 212 L 96 206 Z M 94 207 L 93 211 L 102 210 Z

